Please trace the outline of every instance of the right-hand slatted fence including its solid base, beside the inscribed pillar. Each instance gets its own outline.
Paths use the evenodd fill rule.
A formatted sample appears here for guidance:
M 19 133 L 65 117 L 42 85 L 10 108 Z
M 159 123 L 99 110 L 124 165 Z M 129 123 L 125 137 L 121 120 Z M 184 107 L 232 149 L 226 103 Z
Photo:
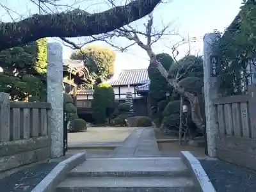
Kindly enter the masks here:
M 214 100 L 218 111 L 217 155 L 256 170 L 256 87 L 246 95 Z

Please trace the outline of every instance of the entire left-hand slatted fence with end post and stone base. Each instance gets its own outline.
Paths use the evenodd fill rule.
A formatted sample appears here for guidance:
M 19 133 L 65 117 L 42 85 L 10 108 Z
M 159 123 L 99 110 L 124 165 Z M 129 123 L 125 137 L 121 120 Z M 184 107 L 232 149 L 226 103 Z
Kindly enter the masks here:
M 12 102 L 0 93 L 0 172 L 49 158 L 51 104 Z

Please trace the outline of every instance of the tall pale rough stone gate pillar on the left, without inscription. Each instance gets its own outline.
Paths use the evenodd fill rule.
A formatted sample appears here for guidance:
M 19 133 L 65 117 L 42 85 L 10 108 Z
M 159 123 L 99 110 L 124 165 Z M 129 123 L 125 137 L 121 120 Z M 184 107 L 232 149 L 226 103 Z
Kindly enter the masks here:
M 47 44 L 47 102 L 52 109 L 47 114 L 51 157 L 63 156 L 63 58 L 59 43 Z

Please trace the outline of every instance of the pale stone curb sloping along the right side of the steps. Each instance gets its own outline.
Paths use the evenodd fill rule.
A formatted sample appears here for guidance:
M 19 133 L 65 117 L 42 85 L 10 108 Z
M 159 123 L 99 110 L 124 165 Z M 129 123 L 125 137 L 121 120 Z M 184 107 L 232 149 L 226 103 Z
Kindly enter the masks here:
M 211 180 L 205 173 L 204 168 L 198 159 L 188 151 L 182 151 L 180 153 L 182 161 L 188 166 L 189 173 L 191 173 L 193 181 L 195 182 L 196 187 L 200 189 L 200 192 L 216 192 L 216 189 L 214 189 Z

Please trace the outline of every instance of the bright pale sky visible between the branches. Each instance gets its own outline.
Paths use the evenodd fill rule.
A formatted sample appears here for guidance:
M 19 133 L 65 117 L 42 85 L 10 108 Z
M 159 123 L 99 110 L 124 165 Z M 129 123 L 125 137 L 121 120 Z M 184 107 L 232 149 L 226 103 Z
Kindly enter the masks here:
M 72 2 L 74 1 L 74 2 Z M 115 1 L 116 4 L 124 4 L 124 0 Z M 153 50 L 156 53 L 166 52 L 172 55 L 170 47 L 179 42 L 182 38 L 196 38 L 196 42 L 191 43 L 191 54 L 203 54 L 202 37 L 205 33 L 211 33 L 214 29 L 223 31 L 234 17 L 239 12 L 242 0 L 165 0 L 164 3 L 157 6 L 154 10 L 154 27 L 161 30 L 166 24 L 170 24 L 170 31 L 174 31 L 179 35 L 166 35 L 162 40 L 154 44 Z M 72 8 L 80 8 L 90 13 L 102 12 L 108 10 L 109 5 L 107 0 L 60 0 L 59 4 L 67 5 Z M 0 13 L 3 22 L 14 19 L 22 19 L 33 13 L 38 13 L 38 8 L 35 4 L 31 4 L 29 0 L 1 0 Z M 4 10 L 4 6 L 8 10 Z M 70 8 L 70 9 L 72 9 Z M 10 11 L 12 10 L 12 11 Z M 51 8 L 52 12 L 61 12 L 67 10 L 67 6 L 58 6 L 58 9 Z M 12 16 L 12 18 L 10 17 Z M 147 17 L 132 23 L 132 26 L 138 30 L 144 30 L 143 23 L 147 22 Z M 180 37 L 181 36 L 181 37 Z M 71 38 L 74 42 L 81 42 L 86 38 Z M 144 40 L 142 38 L 142 40 Z M 51 38 L 50 42 L 58 41 L 56 38 Z M 130 42 L 125 38 L 113 40 L 113 44 L 120 46 L 128 45 Z M 95 42 L 111 47 L 103 42 Z M 111 47 L 116 52 L 116 68 L 118 74 L 122 69 L 132 68 L 147 68 L 149 59 L 146 52 L 137 45 L 132 46 L 126 52 L 120 52 Z M 182 58 L 188 51 L 188 44 L 182 45 L 179 49 L 179 56 Z M 63 57 L 69 58 L 72 49 L 63 46 Z

